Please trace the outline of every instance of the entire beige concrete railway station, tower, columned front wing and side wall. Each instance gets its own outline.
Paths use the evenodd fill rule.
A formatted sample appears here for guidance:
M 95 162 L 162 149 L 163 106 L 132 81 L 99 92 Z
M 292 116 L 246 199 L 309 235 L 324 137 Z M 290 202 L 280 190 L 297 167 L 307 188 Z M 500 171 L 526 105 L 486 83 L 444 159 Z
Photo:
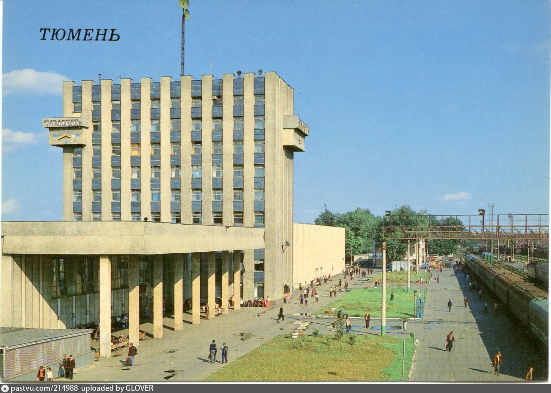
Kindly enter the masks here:
M 293 223 L 293 160 L 310 129 L 275 72 L 63 83 L 63 221 L 2 225 L 2 327 L 72 329 L 128 313 L 138 343 L 201 305 L 282 298 L 340 273 L 344 228 Z M 302 196 L 307 197 L 307 196 Z M 234 311 L 232 311 L 234 312 Z

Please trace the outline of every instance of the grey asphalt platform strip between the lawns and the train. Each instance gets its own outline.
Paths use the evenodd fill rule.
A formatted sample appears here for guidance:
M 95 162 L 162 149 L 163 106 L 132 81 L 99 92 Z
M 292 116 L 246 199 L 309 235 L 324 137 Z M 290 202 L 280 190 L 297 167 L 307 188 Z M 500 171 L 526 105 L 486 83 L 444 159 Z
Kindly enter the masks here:
M 528 367 L 534 368 L 534 379 L 547 378 L 547 362 L 538 356 L 524 333 L 506 315 L 492 315 L 493 295 L 487 293 L 479 302 L 478 294 L 469 292 L 463 274 L 456 276 L 451 268 L 433 274 L 440 276 L 440 283 L 431 283 L 425 317 L 417 321 L 419 342 L 411 380 L 521 381 Z M 468 299 L 466 308 L 463 296 Z M 453 304 L 451 311 L 448 299 Z M 488 303 L 488 314 L 483 313 L 484 301 Z M 444 344 L 450 331 L 456 342 L 448 352 Z M 499 376 L 494 375 L 492 365 L 498 350 L 503 354 Z

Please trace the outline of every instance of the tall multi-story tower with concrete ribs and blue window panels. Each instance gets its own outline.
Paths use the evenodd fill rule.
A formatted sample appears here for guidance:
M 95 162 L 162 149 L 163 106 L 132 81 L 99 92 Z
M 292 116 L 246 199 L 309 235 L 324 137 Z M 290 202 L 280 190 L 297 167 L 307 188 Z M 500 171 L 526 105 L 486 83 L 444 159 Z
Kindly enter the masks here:
M 309 127 L 275 72 L 64 82 L 63 117 L 80 132 L 44 125 L 63 148 L 64 220 L 264 228 L 265 249 L 244 255 L 242 296 L 292 286 L 293 155 Z

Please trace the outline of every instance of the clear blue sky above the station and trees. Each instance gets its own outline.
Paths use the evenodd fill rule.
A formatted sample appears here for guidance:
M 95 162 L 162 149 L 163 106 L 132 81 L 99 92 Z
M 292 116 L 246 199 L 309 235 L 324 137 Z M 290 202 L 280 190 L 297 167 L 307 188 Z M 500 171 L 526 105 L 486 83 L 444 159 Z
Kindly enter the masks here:
M 176 0 L 3 3 L 2 219 L 61 219 L 61 149 L 41 127 L 62 114 L 60 76 L 179 76 L 181 11 Z M 191 0 L 186 74 L 208 74 L 212 55 L 214 76 L 276 71 L 295 89 L 311 129 L 295 154 L 295 222 L 313 222 L 324 203 L 547 213 L 549 8 Z M 113 28 L 121 39 L 41 41 L 40 28 Z

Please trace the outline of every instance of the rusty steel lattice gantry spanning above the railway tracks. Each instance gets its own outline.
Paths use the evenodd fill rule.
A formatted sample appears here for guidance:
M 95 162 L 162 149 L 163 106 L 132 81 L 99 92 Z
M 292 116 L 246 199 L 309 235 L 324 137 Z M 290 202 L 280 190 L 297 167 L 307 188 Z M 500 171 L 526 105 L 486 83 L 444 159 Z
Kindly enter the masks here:
M 418 214 L 406 220 L 395 218 L 393 223 L 387 213 L 382 222 L 383 240 L 549 240 L 549 214 L 494 214 L 493 218 L 485 225 L 484 214 Z

